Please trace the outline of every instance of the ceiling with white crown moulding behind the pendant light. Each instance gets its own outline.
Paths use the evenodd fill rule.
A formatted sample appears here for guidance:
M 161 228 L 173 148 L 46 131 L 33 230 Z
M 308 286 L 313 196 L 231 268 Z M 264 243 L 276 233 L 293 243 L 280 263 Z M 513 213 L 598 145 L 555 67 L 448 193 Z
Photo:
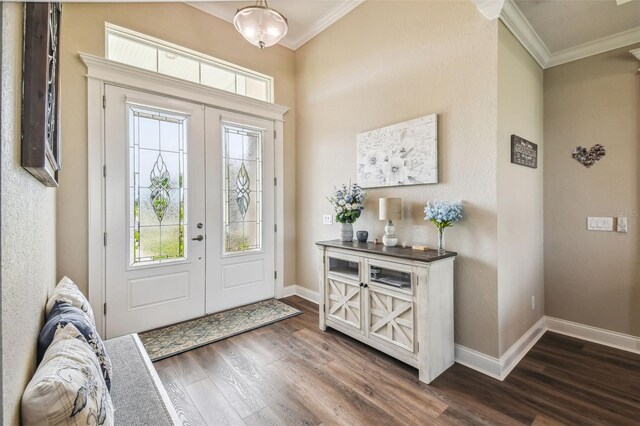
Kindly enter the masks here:
M 269 7 L 282 13 L 289 21 L 289 31 L 280 42 L 289 49 L 311 40 L 331 24 L 359 6 L 364 0 L 272 0 Z M 236 11 L 255 1 L 212 1 L 193 2 L 198 8 L 228 22 L 233 22 Z

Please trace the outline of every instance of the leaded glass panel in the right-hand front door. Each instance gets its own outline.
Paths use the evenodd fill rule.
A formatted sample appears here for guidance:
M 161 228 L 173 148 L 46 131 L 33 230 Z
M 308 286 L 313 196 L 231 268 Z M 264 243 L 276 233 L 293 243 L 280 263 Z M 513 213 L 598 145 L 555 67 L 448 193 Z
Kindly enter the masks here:
M 262 131 L 222 123 L 224 254 L 262 250 Z

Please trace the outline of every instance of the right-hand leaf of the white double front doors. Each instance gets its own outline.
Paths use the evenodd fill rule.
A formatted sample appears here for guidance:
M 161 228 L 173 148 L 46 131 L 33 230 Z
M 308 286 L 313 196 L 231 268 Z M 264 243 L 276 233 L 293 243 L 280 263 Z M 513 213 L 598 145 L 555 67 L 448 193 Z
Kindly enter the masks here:
M 207 108 L 207 313 L 274 297 L 273 122 Z

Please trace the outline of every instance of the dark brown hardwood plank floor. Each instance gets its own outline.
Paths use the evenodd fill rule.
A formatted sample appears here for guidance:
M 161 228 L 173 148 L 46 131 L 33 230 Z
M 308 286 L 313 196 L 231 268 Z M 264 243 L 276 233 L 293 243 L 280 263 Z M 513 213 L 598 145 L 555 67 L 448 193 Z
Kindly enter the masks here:
M 504 381 L 417 370 L 336 331 L 317 306 L 156 362 L 184 425 L 640 424 L 640 355 L 545 334 Z

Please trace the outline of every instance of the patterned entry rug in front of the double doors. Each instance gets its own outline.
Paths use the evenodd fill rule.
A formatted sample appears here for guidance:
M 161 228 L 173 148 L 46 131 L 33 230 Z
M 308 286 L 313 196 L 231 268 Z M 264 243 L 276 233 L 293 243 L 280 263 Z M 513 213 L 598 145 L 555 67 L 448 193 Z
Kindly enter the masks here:
M 140 340 L 151 361 L 158 361 L 301 313 L 276 299 L 268 299 L 146 331 L 140 333 Z

